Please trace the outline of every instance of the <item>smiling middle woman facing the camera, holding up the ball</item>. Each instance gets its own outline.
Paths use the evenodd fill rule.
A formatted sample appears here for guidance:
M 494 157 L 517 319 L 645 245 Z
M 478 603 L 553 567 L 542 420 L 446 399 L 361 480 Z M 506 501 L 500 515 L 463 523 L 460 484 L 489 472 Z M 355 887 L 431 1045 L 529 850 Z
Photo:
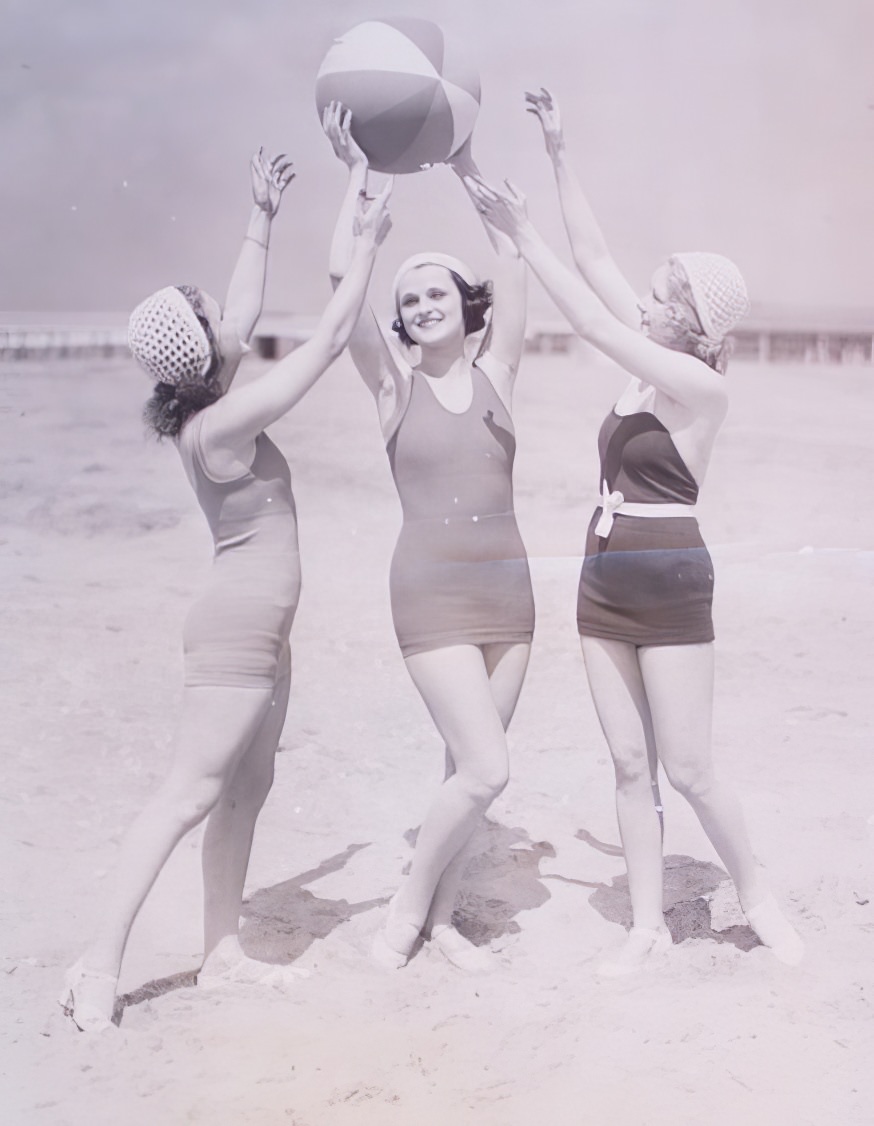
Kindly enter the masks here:
M 333 104 L 324 129 L 349 169 L 347 209 L 365 189 L 367 160 Z M 454 171 L 475 173 L 466 146 Z M 348 270 L 348 221 L 331 251 Z M 446 747 L 446 776 L 419 831 L 409 877 L 373 945 L 400 968 L 420 936 L 454 965 L 491 968 L 490 951 L 454 927 L 465 846 L 507 784 L 506 730 L 528 664 L 534 601 L 512 501 L 512 387 L 525 330 L 525 267 L 496 239 L 499 278 L 428 252 L 398 270 L 390 343 L 366 312 L 350 352 L 376 400 L 403 510 L 392 558 L 392 617 L 407 669 Z M 476 333 L 488 325 L 484 341 Z M 418 354 L 418 355 L 417 355 Z

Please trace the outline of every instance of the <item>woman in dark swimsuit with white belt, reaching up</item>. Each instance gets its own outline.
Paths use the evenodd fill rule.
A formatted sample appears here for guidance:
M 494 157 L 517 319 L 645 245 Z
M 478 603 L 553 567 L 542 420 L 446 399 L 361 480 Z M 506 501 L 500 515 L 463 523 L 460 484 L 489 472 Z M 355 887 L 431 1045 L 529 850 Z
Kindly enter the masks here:
M 695 503 L 725 417 L 726 334 L 747 313 L 746 286 L 720 254 L 679 253 L 659 267 L 639 303 L 567 162 L 556 104 L 546 90 L 526 98 L 543 128 L 582 277 L 546 247 L 515 188 L 480 180 L 471 190 L 572 328 L 631 376 L 598 438 L 601 503 L 587 533 L 577 608 L 614 760 L 633 912 L 624 948 L 600 972 L 631 973 L 671 942 L 659 762 L 732 876 L 752 929 L 777 958 L 795 964 L 801 939 L 768 891 L 738 801 L 711 757 L 713 564 Z

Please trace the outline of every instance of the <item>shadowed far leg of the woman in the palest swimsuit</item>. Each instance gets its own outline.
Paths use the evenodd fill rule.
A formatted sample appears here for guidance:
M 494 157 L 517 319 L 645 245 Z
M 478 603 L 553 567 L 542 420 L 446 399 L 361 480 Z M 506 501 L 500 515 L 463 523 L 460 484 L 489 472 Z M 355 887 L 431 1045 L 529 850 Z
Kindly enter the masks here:
M 206 821 L 203 843 L 204 958 L 239 931 L 255 822 L 270 792 L 274 762 L 288 711 L 291 656 L 279 660 L 270 707 L 233 777 Z

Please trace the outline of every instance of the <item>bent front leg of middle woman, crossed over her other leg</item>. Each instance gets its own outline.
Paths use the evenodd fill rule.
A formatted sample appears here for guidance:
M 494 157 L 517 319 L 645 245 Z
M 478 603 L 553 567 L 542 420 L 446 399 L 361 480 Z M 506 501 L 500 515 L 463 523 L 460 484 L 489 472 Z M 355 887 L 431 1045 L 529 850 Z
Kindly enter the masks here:
M 507 785 L 503 724 L 482 652 L 452 645 L 407 658 L 407 668 L 443 735 L 455 772 L 440 786 L 422 822 L 410 875 L 392 901 L 385 939 L 409 955 L 448 865 Z

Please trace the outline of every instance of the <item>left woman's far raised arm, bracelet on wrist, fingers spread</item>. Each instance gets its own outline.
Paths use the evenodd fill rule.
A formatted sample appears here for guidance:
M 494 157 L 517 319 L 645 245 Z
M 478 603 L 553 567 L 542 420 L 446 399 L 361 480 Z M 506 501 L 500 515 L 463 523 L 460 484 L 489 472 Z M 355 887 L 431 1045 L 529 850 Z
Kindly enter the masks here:
M 294 179 L 292 162 L 285 154 L 270 159 L 262 149 L 252 157 L 250 172 L 255 206 L 222 311 L 222 336 L 243 343 L 249 341 L 261 315 L 270 226 L 282 194 Z

